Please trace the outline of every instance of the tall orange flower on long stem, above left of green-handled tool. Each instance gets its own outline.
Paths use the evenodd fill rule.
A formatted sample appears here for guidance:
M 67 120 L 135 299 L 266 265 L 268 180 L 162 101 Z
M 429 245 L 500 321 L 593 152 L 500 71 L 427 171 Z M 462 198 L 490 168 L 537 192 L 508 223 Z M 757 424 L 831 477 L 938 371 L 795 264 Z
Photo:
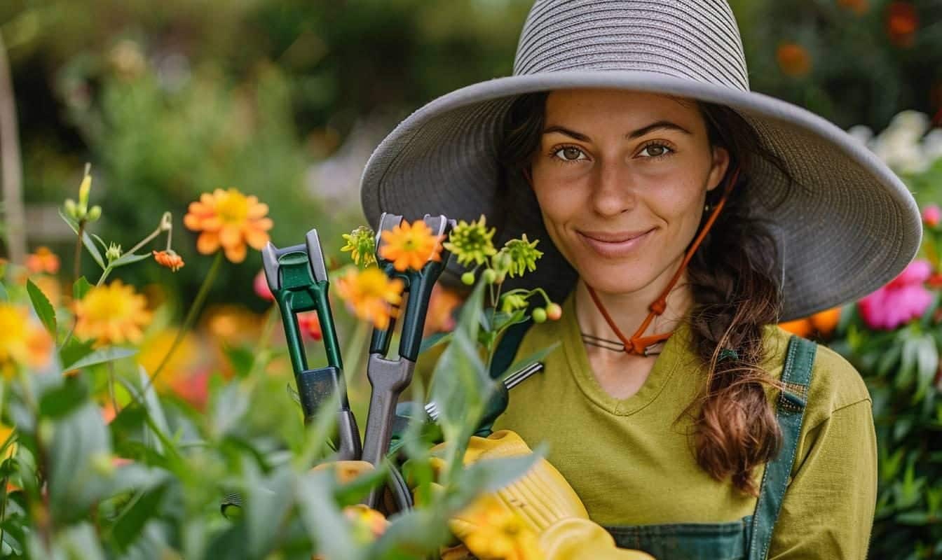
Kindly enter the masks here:
M 203 193 L 200 200 L 189 203 L 183 223 L 193 232 L 201 232 L 196 249 L 209 255 L 222 247 L 233 263 L 245 260 L 246 244 L 259 249 L 268 243 L 271 219 L 268 204 L 256 197 L 247 197 L 235 188 Z

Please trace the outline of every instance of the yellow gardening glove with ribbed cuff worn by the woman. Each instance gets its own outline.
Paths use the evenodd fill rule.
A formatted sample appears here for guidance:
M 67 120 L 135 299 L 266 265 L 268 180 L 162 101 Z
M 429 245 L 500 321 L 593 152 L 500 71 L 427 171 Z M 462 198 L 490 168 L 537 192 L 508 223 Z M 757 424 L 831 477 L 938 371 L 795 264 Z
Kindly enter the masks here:
M 436 446 L 432 453 L 444 445 Z M 463 461 L 467 465 L 530 453 L 520 436 L 502 430 L 488 438 L 471 438 Z M 433 458 L 432 468 L 440 472 L 444 461 Z M 589 520 L 576 491 L 542 457 L 522 477 L 480 497 L 448 525 L 481 560 L 654 560 L 645 552 L 616 548 L 609 532 Z

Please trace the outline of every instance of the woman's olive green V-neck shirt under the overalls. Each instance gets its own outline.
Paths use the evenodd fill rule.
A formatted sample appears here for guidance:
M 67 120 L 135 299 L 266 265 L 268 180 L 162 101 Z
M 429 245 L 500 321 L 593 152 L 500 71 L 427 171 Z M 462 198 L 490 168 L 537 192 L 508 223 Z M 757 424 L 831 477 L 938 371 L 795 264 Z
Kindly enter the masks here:
M 573 299 L 559 322 L 528 330 L 518 357 L 556 342 L 560 347 L 544 360 L 542 373 L 512 390 L 494 429 L 516 431 L 531 447 L 548 444 L 548 460 L 600 524 L 716 523 L 752 515 L 755 498 L 729 480 L 714 480 L 693 456 L 692 420 L 683 411 L 705 376 L 689 328 L 668 340 L 639 392 L 617 399 L 593 376 Z M 789 336 L 766 330 L 764 367 L 771 376 L 781 375 Z M 691 411 L 695 417 L 698 411 Z M 756 484 L 762 473 L 756 469 Z M 865 558 L 876 489 L 869 392 L 853 366 L 819 346 L 769 558 Z

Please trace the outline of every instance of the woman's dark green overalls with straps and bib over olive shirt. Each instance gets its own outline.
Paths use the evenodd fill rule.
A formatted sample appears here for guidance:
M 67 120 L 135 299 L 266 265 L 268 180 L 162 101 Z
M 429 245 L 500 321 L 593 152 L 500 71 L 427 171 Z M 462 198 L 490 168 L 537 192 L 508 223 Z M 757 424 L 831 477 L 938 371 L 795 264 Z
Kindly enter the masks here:
M 528 323 L 504 334 L 492 362 L 492 375 L 511 364 Z M 753 515 L 727 523 L 673 523 L 606 527 L 619 548 L 647 552 L 658 560 L 763 560 L 778 519 L 791 465 L 802 430 L 805 399 L 817 345 L 798 336 L 788 341 L 781 380 L 788 387 L 778 398 L 776 419 L 782 430 L 778 456 L 766 465 Z

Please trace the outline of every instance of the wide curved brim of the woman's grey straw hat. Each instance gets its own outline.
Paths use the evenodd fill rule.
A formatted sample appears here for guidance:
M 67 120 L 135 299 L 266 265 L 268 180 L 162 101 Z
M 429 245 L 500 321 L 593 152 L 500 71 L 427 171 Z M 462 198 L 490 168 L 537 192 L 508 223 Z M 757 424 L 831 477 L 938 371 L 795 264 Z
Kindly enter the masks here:
M 895 278 L 919 248 L 918 207 L 900 179 L 865 146 L 828 120 L 750 91 L 652 72 L 545 72 L 495 78 L 457 89 L 415 111 L 366 164 L 361 199 L 375 227 L 382 212 L 410 219 L 495 213 L 497 145 L 507 109 L 525 93 L 572 88 L 657 92 L 729 106 L 747 120 L 797 184 L 759 162 L 750 188 L 756 217 L 778 237 L 782 320 L 853 301 Z M 503 210 L 503 209 L 501 209 Z M 545 237 L 532 203 L 508 210 L 509 238 L 543 236 L 546 254 L 528 283 L 564 296 L 575 278 Z M 566 285 L 568 284 L 568 286 Z

